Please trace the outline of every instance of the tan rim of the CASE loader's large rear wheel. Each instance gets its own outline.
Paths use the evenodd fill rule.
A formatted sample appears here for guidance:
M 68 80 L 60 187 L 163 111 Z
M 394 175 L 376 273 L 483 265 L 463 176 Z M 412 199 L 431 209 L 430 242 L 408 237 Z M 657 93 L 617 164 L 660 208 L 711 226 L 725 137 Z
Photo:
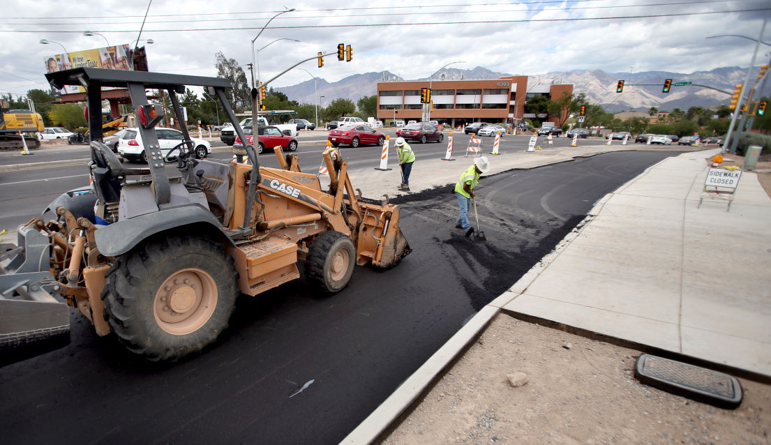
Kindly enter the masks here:
M 188 268 L 173 273 L 158 288 L 153 315 L 160 329 L 186 335 L 209 321 L 217 307 L 217 284 L 206 271 Z

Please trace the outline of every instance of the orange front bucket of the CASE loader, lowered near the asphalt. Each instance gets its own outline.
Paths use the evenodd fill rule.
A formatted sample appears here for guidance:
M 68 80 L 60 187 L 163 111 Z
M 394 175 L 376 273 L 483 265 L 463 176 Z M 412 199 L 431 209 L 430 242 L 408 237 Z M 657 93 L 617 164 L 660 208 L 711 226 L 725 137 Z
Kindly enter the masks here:
M 364 216 L 359 231 L 359 251 L 372 256 L 372 264 L 381 268 L 398 265 L 412 251 L 399 228 L 399 206 L 359 202 Z

